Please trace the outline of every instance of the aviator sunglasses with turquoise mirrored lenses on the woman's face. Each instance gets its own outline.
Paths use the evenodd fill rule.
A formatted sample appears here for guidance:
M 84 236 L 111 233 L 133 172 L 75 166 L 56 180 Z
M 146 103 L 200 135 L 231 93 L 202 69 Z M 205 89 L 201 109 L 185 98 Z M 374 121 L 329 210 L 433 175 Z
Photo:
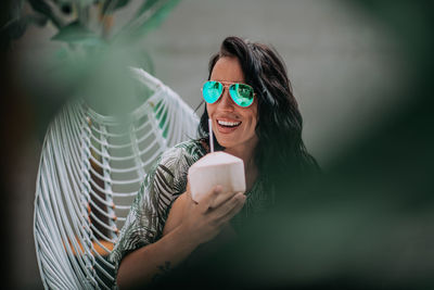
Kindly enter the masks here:
M 208 80 L 202 87 L 202 94 L 207 103 L 215 103 L 226 87 L 229 87 L 229 96 L 239 106 L 247 108 L 253 103 L 255 92 L 245 84 Z

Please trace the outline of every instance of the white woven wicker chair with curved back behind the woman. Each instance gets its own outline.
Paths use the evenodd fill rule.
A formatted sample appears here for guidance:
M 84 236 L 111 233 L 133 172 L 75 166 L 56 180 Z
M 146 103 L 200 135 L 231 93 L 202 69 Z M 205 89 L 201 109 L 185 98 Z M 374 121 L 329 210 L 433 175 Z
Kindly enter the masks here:
M 35 244 L 46 289 L 110 289 L 106 256 L 146 171 L 168 147 L 195 138 L 199 118 L 146 72 L 153 94 L 127 118 L 68 103 L 47 131 L 35 200 Z

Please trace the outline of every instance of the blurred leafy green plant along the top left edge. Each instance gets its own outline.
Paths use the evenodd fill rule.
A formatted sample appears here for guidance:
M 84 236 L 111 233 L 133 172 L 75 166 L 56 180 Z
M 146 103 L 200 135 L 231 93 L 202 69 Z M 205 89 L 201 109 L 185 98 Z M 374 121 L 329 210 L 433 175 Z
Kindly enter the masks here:
M 136 41 L 157 27 L 179 0 L 142 0 L 130 18 L 111 35 L 116 12 L 133 4 L 131 0 L 16 0 L 10 21 L 1 28 L 10 39 L 24 35 L 28 25 L 51 23 L 58 34 L 53 40 L 69 45 L 104 46 Z M 31 9 L 26 9 L 28 4 Z

